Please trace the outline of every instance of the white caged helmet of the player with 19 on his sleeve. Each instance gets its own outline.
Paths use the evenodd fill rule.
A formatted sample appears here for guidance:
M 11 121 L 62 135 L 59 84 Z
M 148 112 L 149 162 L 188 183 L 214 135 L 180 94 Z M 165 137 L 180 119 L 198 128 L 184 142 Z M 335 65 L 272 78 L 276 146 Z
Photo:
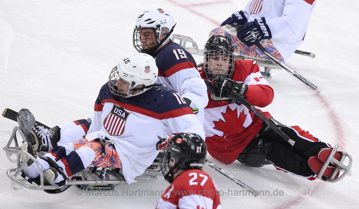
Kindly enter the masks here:
M 136 20 L 134 47 L 138 52 L 153 55 L 172 37 L 175 25 L 172 15 L 165 9 L 144 11 Z

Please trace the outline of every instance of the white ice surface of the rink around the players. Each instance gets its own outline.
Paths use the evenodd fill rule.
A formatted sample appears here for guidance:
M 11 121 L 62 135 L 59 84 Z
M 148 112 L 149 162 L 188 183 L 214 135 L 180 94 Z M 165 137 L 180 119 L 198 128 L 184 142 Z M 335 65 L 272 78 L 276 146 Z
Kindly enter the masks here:
M 137 53 L 132 46 L 135 19 L 142 11 L 165 8 L 177 22 L 175 34 L 192 37 L 201 47 L 208 33 L 247 0 L 0 0 L 0 110 L 28 108 L 49 126 L 88 117 L 100 87 L 123 56 Z M 359 208 L 358 105 L 359 68 L 356 41 L 359 29 L 356 0 L 318 1 L 299 49 L 314 59 L 294 54 L 288 64 L 322 91 L 304 85 L 285 70 L 272 70 L 267 79 L 275 91 L 262 110 L 286 125 L 300 125 L 321 141 L 353 156 L 353 175 L 336 183 L 308 181 L 268 165 L 251 168 L 234 162 L 224 168 L 256 190 L 283 191 L 282 196 L 224 194 L 223 208 Z M 194 56 L 201 62 L 200 56 Z M 17 125 L 0 118 L 0 147 Z M 143 133 L 146 136 L 146 133 Z M 15 167 L 0 151 L 0 208 L 154 208 L 160 196 L 130 195 L 135 190 L 165 190 L 159 178 L 116 186 L 106 196 L 77 196 L 76 186 L 51 195 L 41 190 L 14 191 L 6 170 Z M 204 169 L 219 190 L 242 190 L 212 168 Z M 126 191 L 128 192 L 126 195 Z M 116 195 L 117 194 L 117 195 Z M 233 193 L 234 194 L 234 193 Z

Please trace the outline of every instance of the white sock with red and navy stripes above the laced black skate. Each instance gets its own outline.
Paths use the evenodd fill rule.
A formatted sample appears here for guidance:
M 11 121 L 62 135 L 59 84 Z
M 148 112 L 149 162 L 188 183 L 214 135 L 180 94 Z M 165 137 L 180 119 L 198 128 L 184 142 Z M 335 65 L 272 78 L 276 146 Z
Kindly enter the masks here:
M 87 121 L 87 120 L 85 120 Z M 87 134 L 88 129 L 90 128 L 91 123 L 83 123 L 75 125 L 74 127 L 62 129 L 60 133 L 60 140 L 57 142 L 58 146 L 62 146 L 65 143 L 75 143 L 77 140 L 83 138 Z

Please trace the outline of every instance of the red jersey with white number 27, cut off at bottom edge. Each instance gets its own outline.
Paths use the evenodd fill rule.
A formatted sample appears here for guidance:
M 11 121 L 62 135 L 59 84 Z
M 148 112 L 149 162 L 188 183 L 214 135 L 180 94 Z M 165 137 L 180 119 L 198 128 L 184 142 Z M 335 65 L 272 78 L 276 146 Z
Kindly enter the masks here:
M 221 209 L 219 192 L 212 178 L 200 169 L 190 169 L 174 178 L 156 209 Z

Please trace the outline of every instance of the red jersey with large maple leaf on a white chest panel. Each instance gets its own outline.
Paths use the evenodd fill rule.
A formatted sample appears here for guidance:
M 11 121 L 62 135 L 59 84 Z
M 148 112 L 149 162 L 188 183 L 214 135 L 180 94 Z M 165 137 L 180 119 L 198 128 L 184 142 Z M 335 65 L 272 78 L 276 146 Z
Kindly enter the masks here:
M 202 79 L 206 79 L 204 70 L 200 70 Z M 234 61 L 234 71 L 230 78 L 248 85 L 246 100 L 253 106 L 265 107 L 274 98 L 274 91 L 262 77 L 254 60 Z M 208 96 L 211 93 L 208 92 Z M 272 118 L 268 112 L 262 112 Z M 235 161 L 244 147 L 261 130 L 263 122 L 246 106 L 232 102 L 216 102 L 209 99 L 205 108 L 206 144 L 208 153 L 217 160 L 229 164 Z

